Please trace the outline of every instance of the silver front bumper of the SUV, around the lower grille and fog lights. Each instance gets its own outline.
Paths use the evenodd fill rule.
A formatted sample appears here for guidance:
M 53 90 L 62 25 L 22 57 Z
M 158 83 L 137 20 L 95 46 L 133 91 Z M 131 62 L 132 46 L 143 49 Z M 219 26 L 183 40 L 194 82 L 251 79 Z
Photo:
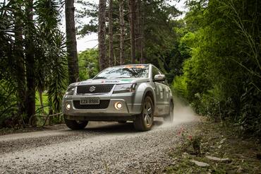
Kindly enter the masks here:
M 65 95 L 62 110 L 68 120 L 90 120 L 90 121 L 119 121 L 135 120 L 135 115 L 141 112 L 141 100 L 137 100 L 139 93 L 119 93 L 103 95 Z M 109 100 L 109 106 L 105 109 L 78 109 L 73 101 L 80 98 L 97 97 L 99 100 Z M 115 103 L 122 103 L 122 108 L 117 110 Z M 71 105 L 70 109 L 66 105 Z

